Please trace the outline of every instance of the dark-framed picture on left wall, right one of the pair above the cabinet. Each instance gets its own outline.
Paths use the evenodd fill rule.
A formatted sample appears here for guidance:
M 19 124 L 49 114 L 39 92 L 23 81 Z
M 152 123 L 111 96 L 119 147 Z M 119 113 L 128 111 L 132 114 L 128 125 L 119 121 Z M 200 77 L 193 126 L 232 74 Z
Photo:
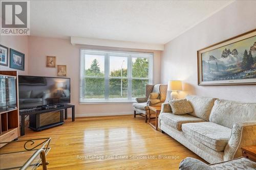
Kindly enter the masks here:
M 25 54 L 10 48 L 10 68 L 25 70 Z

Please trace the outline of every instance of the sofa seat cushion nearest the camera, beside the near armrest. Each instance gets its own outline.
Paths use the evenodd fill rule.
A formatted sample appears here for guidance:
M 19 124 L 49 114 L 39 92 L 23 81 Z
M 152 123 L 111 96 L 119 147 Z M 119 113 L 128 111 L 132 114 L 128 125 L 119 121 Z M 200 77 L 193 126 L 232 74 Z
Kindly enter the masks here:
M 182 131 L 215 151 L 224 151 L 231 129 L 212 123 L 200 122 L 182 125 Z

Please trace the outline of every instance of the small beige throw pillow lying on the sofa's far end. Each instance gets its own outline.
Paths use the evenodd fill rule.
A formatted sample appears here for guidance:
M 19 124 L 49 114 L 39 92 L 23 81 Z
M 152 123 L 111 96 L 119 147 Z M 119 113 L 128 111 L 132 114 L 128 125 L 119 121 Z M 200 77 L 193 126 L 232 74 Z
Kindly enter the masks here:
M 174 114 L 186 114 L 193 112 L 193 108 L 186 99 L 169 101 L 169 104 Z

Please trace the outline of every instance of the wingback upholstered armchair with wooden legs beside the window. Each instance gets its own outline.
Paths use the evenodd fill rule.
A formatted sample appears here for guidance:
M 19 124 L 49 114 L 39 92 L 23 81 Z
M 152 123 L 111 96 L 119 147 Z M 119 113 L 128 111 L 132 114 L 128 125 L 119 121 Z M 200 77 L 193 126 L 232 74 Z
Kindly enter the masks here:
M 161 106 L 166 98 L 167 85 L 156 84 L 146 85 L 146 96 L 143 98 L 136 98 L 137 103 L 133 104 L 134 117 L 140 115 L 145 117 L 147 122 L 147 115 L 149 113 L 148 106 Z

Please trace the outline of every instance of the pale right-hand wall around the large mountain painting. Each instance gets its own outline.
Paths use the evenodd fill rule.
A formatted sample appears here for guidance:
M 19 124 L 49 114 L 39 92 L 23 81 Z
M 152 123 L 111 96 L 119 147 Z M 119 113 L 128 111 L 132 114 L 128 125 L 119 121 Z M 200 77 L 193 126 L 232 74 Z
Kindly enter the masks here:
M 197 51 L 256 28 L 256 1 L 237 1 L 164 46 L 161 82 L 182 80 L 186 94 L 256 102 L 256 85 L 198 86 Z

